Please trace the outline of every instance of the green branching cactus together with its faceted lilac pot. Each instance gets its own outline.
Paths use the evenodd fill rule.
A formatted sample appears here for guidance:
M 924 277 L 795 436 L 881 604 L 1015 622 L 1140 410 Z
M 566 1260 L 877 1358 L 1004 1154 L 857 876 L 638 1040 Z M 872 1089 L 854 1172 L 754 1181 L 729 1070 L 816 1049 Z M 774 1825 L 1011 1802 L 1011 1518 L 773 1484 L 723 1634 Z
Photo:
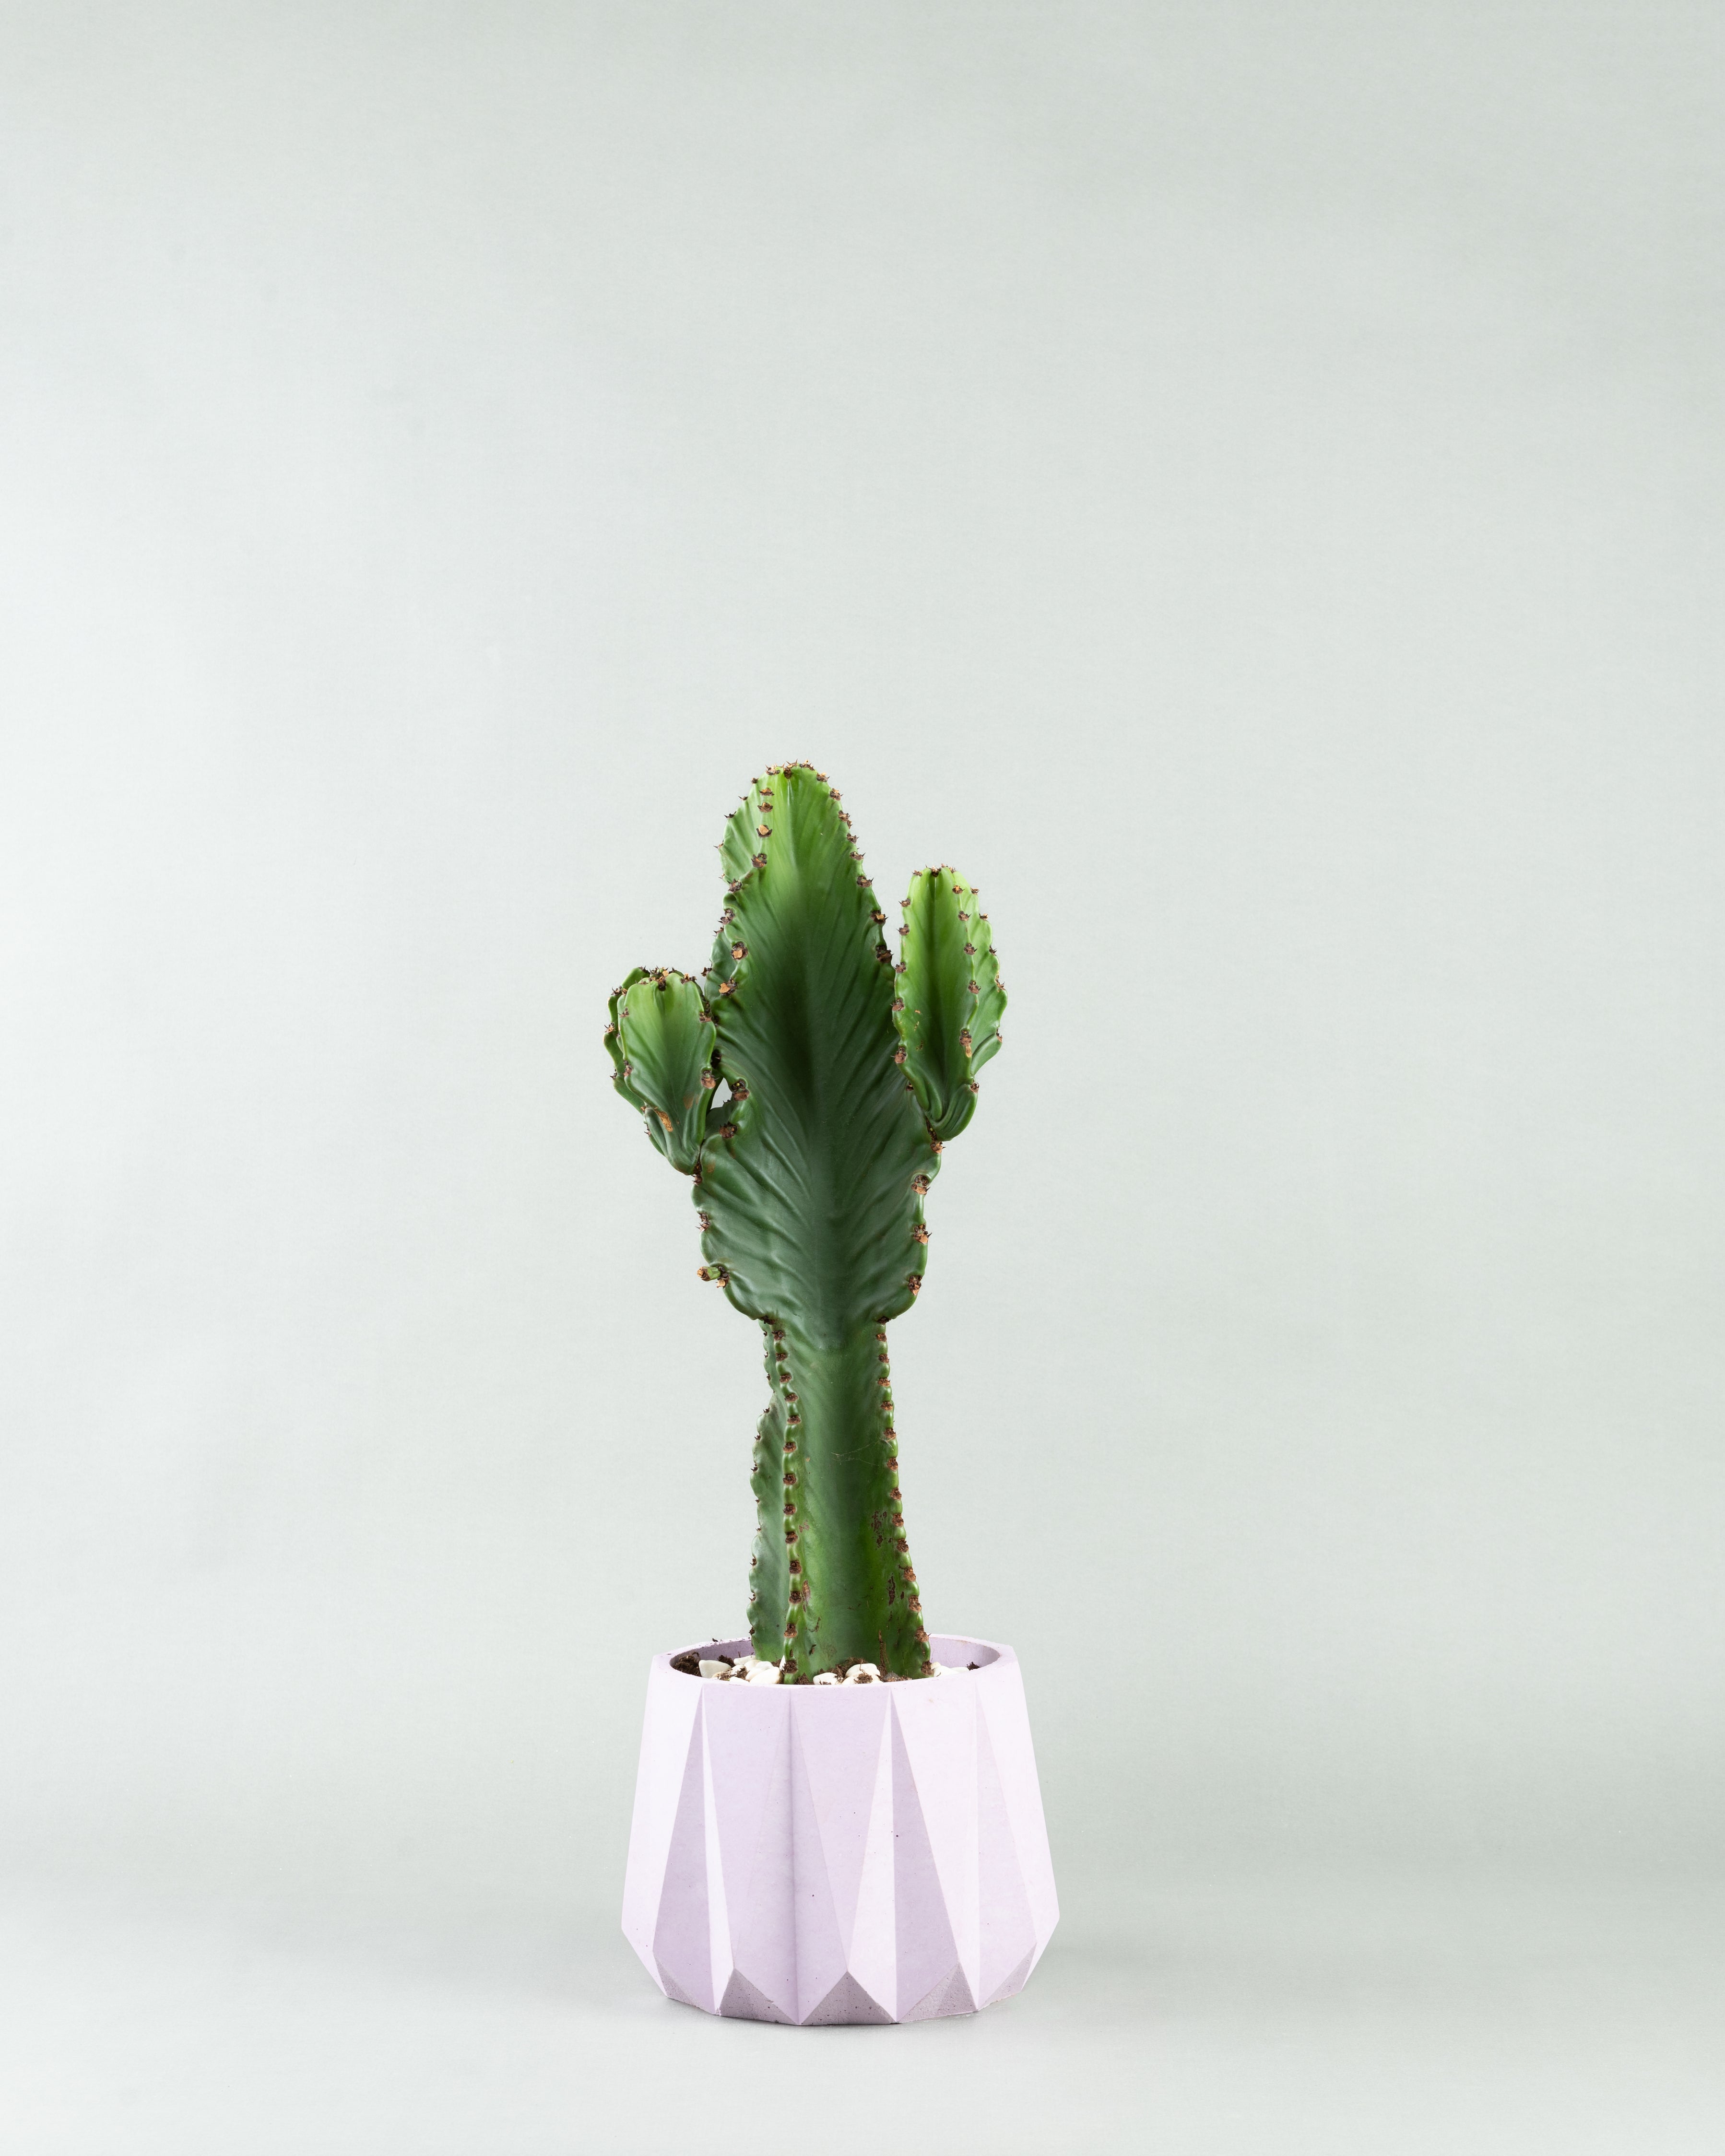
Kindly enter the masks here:
M 649 1669 L 623 1930 L 709 2014 L 970 2014 L 1022 1988 L 1059 1910 L 1016 1656 L 923 1626 L 886 1326 L 1007 998 L 953 869 L 912 877 L 895 962 L 811 765 L 757 778 L 720 852 L 712 964 L 636 968 L 606 1044 L 770 1399 L 748 1636 Z

